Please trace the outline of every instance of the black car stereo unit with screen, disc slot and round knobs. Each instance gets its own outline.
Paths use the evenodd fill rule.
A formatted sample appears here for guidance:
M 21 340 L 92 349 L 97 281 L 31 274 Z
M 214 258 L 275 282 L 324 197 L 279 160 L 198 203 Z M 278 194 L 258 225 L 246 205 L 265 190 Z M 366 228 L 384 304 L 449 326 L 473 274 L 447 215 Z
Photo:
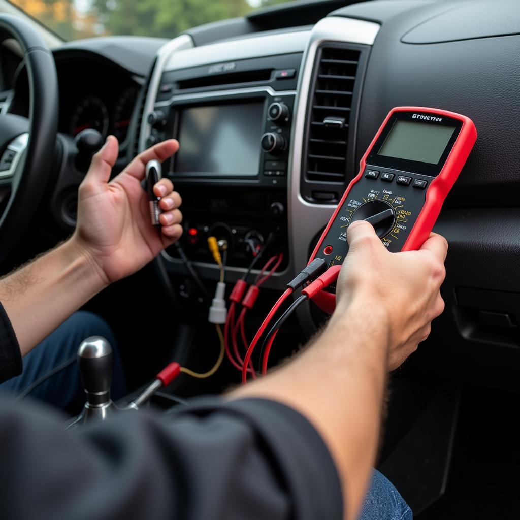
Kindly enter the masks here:
M 216 76 L 214 66 L 165 73 L 148 116 L 148 144 L 168 137 L 179 141 L 179 151 L 164 168 L 167 175 L 188 183 L 286 186 L 300 59 L 299 54 L 272 57 L 270 69 L 244 60 L 233 72 Z M 285 68 L 278 69 L 282 64 Z M 218 77 L 223 84 L 217 84 Z M 163 99 L 160 93 L 170 87 L 173 95 Z

